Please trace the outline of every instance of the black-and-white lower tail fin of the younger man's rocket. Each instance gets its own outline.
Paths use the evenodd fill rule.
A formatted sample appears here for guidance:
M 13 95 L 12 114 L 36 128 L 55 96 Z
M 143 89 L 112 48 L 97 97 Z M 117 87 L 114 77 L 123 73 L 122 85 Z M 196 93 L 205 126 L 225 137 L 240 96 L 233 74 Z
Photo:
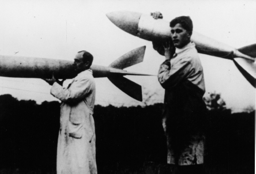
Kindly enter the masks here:
M 233 59 L 236 67 L 243 74 L 247 81 L 250 82 L 251 85 L 255 86 L 255 74 L 256 74 L 256 64 L 255 62 L 251 62 L 250 60 L 246 60 L 243 58 L 234 58 Z

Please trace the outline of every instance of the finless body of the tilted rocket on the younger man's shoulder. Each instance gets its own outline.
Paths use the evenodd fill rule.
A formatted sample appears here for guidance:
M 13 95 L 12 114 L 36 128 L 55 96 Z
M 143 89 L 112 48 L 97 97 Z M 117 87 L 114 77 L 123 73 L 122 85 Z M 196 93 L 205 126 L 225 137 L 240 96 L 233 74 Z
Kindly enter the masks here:
M 161 42 L 171 37 L 170 22 L 162 19 L 155 20 L 148 14 L 118 11 L 108 13 L 107 17 L 123 31 L 140 37 L 141 39 Z M 233 56 L 235 56 L 254 61 L 254 58 L 243 54 L 242 52 L 236 50 L 236 48 L 211 39 L 210 37 L 201 35 L 195 31 L 193 31 L 191 41 L 195 43 L 197 51 L 202 54 L 227 59 L 232 59 Z

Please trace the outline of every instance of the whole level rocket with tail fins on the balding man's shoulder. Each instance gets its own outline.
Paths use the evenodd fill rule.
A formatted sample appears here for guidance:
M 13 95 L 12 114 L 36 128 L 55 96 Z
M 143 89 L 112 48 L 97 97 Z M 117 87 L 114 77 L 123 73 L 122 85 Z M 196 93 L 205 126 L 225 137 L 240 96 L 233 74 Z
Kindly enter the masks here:
M 127 95 L 142 101 L 141 85 L 123 76 L 149 74 L 133 73 L 123 69 L 142 62 L 145 49 L 146 46 L 135 48 L 116 59 L 109 66 L 92 65 L 93 77 L 107 77 Z M 55 78 L 68 79 L 77 75 L 73 62 L 69 60 L 0 55 L 0 65 L 0 76 L 3 77 L 51 78 L 54 73 Z

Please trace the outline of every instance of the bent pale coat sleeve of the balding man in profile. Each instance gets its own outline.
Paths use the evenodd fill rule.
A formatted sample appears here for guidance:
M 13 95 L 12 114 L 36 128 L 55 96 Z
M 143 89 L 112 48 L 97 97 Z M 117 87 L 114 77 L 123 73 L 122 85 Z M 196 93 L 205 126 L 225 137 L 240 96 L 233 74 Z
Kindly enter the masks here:
M 67 103 L 77 103 L 91 92 L 91 82 L 88 78 L 75 80 L 70 88 L 63 88 L 57 82 L 52 85 L 51 94 L 57 99 Z

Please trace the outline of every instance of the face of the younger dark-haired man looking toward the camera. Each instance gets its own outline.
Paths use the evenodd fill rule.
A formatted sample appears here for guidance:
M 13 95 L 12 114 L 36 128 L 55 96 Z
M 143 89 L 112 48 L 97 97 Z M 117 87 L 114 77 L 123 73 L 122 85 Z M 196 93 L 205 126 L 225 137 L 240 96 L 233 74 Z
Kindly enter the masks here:
M 180 24 L 176 24 L 174 27 L 171 27 L 171 37 L 176 48 L 182 48 L 190 42 L 191 34 L 186 31 Z

